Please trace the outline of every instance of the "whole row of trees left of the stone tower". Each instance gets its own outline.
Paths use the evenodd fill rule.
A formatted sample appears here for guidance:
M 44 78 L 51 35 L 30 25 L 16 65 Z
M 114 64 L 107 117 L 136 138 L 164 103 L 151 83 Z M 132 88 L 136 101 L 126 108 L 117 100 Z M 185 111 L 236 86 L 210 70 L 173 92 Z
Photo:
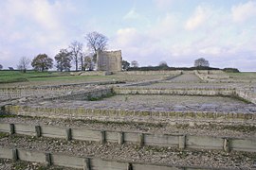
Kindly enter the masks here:
M 71 42 L 67 48 L 61 49 L 58 54 L 55 55 L 56 68 L 60 72 L 70 71 L 72 62 L 75 65 L 76 71 L 93 70 L 97 60 L 97 51 L 106 50 L 108 39 L 106 36 L 99 32 L 90 32 L 85 35 L 86 46 L 88 47 L 90 54 L 83 52 L 82 42 Z M 30 60 L 27 57 L 22 57 L 17 65 L 17 69 L 26 73 L 29 64 L 34 70 L 45 72 L 53 68 L 53 59 L 46 54 L 39 54 Z M 3 66 L 0 64 L 0 70 Z

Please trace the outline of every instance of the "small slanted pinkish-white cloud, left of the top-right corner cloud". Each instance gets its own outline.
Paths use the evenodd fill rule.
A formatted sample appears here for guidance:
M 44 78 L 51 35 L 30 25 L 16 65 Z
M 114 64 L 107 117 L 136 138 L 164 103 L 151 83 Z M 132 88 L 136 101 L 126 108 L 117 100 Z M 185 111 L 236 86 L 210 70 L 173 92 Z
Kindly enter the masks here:
M 202 26 L 209 17 L 208 9 L 199 6 L 195 9 L 192 17 L 186 22 L 185 28 L 194 30 L 195 28 Z

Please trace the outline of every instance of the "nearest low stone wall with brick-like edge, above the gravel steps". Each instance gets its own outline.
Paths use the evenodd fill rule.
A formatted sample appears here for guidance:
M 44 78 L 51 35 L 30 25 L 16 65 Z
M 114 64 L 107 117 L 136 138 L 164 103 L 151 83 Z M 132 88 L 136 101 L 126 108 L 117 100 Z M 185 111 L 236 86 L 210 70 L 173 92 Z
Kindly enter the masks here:
M 255 125 L 255 113 L 242 112 L 207 112 L 207 111 L 157 111 L 157 110 L 103 110 L 86 108 L 31 108 L 27 106 L 6 105 L 2 107 L 6 113 L 32 117 L 48 117 L 62 119 L 89 119 L 114 122 L 147 122 L 168 123 L 176 121 L 184 123 L 237 123 Z

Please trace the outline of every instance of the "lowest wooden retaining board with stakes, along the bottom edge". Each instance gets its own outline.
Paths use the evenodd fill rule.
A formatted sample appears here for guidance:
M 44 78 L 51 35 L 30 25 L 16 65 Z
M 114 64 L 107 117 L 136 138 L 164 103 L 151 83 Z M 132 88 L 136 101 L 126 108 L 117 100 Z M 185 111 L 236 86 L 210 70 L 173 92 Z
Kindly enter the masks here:
M 47 165 L 78 168 L 83 170 L 192 170 L 206 169 L 205 167 L 175 167 L 174 165 L 159 165 L 155 163 L 141 163 L 129 161 L 102 160 L 48 153 L 42 151 L 26 150 L 22 148 L 0 147 L 0 158 L 13 161 L 33 161 Z

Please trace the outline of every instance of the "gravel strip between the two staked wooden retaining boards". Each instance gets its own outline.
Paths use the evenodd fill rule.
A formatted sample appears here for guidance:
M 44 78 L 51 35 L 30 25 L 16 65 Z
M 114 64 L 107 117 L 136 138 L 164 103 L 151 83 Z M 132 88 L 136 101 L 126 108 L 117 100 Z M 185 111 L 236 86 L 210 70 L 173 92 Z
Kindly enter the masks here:
M 136 144 L 98 144 L 81 141 L 65 141 L 49 138 L 31 138 L 18 135 L 2 135 L 4 147 L 32 149 L 40 152 L 59 152 L 65 155 L 90 156 L 118 161 L 164 163 L 181 166 L 207 166 L 232 169 L 255 169 L 256 154 L 246 152 L 225 153 L 212 150 L 178 150 L 171 147 L 144 146 Z M 120 157 L 121 155 L 121 157 Z

